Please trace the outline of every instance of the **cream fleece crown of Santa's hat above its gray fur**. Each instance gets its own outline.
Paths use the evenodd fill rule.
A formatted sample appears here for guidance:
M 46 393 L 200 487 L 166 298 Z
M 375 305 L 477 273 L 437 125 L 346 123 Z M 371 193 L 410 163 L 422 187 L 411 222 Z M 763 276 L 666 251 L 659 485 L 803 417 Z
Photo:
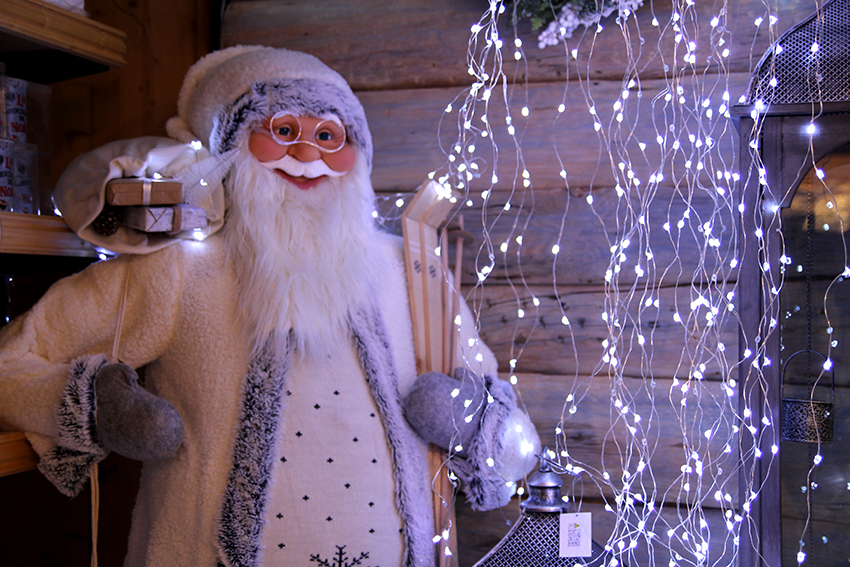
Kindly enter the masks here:
M 300 81 L 305 81 L 301 83 Z M 226 151 L 216 147 L 213 137 L 222 140 L 226 136 L 213 136 L 217 123 L 233 122 L 239 116 L 221 117 L 225 108 L 231 110 L 238 106 L 237 100 L 243 99 L 249 92 L 268 97 L 270 103 L 277 97 L 270 90 L 288 85 L 290 90 L 285 97 L 302 99 L 309 104 L 309 98 L 320 94 L 320 104 L 328 106 L 328 94 L 321 94 L 315 88 L 316 83 L 328 85 L 336 98 L 334 106 L 344 109 L 348 118 L 340 115 L 350 133 L 350 138 L 367 152 L 367 162 L 371 162 L 371 138 L 366 127 L 363 108 L 351 91 L 345 79 L 316 57 L 287 49 L 261 46 L 236 46 L 210 53 L 189 69 L 180 90 L 177 103 L 177 116 L 166 124 L 168 134 L 180 141 L 200 140 L 213 153 Z M 312 85 L 304 92 L 291 90 L 294 85 Z M 250 107 L 253 112 L 270 111 L 271 107 L 261 108 L 254 101 Z M 240 122 L 241 124 L 241 122 Z M 231 131 L 238 131 L 232 128 Z M 231 145 L 228 146 L 232 148 Z

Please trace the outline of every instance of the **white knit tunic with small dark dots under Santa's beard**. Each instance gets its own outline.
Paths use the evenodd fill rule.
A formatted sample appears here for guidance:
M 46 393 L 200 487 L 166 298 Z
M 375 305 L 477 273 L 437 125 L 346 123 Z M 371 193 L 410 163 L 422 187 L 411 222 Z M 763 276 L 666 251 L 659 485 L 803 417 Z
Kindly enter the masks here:
M 389 445 L 353 346 L 335 360 L 296 362 L 284 404 L 263 565 L 399 565 L 402 521 Z

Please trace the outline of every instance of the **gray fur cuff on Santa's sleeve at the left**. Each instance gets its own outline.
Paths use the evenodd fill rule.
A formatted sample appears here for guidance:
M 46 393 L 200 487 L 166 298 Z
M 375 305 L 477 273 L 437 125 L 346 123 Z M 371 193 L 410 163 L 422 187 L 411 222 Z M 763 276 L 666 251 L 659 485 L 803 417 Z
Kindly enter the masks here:
M 106 457 L 97 438 L 94 377 L 107 363 L 103 355 L 83 356 L 71 363 L 68 383 L 56 412 L 56 444 L 41 456 L 38 470 L 67 496 L 75 496 L 91 466 Z

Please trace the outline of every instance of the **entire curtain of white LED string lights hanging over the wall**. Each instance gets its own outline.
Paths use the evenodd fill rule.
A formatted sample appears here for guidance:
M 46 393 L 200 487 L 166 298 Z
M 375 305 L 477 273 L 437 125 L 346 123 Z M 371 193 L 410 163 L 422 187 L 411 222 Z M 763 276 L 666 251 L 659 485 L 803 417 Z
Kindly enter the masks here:
M 566 34 L 559 40 L 569 79 L 557 111 L 550 113 L 530 108 L 527 101 L 517 103 L 520 87 L 502 70 L 502 50 L 504 59 L 522 64 L 522 42 L 501 39 L 497 24 L 505 9 L 501 2 L 491 1 L 484 17 L 471 28 L 468 61 L 473 85 L 447 105 L 444 114 L 445 119 L 456 113 L 458 136 L 444 148 L 446 165 L 432 178 L 454 191 L 460 212 L 483 202 L 483 243 L 474 266 L 477 281 L 470 286 L 467 299 L 473 313 L 480 315 L 488 278 L 501 262 L 516 308 L 515 316 L 506 323 L 513 325 L 512 342 L 517 341 L 520 330 L 527 333 L 522 344 L 512 344 L 510 353 L 509 379 L 519 385 L 517 369 L 540 320 L 541 299 L 551 301 L 535 294 L 523 273 L 524 237 L 533 222 L 535 172 L 525 165 L 521 126 L 527 123 L 524 120 L 536 124 L 551 121 L 553 133 L 557 132 L 567 108 L 568 83 L 578 84 L 587 114 L 575 119 L 593 128 L 602 148 L 594 182 L 579 204 L 588 207 L 603 229 L 610 251 L 605 273 L 599 274 L 604 282 L 599 317 L 607 336 L 598 363 L 590 372 L 581 369 L 580 375 L 576 337 L 561 297 L 564 287 L 558 282 L 558 263 L 564 261 L 568 215 L 577 206 L 573 199 L 581 192 L 571 187 L 569 160 L 562 158 L 555 144 L 556 173 L 567 199 L 557 234 L 545 249 L 552 261 L 550 289 L 558 306 L 554 310 L 560 313 L 566 334 L 559 354 L 572 357 L 576 370 L 572 380 L 566 378 L 563 383 L 564 404 L 550 456 L 577 475 L 573 483 L 574 492 L 579 493 L 573 496 L 579 507 L 584 497 L 593 496 L 601 498 L 612 515 L 613 521 L 606 525 L 613 529 L 605 534 L 609 537 L 604 542 L 613 556 L 610 565 L 637 564 L 647 554 L 658 565 L 734 565 L 741 551 L 742 530 L 750 529 L 749 515 L 762 489 L 750 483 L 739 492 L 741 463 L 751 467 L 750 473 L 761 461 L 772 463 L 771 468 L 778 463 L 777 425 L 761 417 L 773 415 L 773 408 L 759 400 L 766 399 L 768 388 L 764 368 L 780 364 L 769 359 L 767 344 L 779 330 L 779 296 L 791 259 L 783 256 L 776 266 L 761 262 L 766 309 L 757 336 L 743 337 L 740 349 L 744 357 L 739 360 L 735 344 L 740 327 L 737 272 L 742 262 L 752 261 L 742 252 L 755 240 L 758 253 L 764 256 L 768 237 L 781 237 L 782 227 L 777 210 L 748 207 L 735 191 L 739 183 L 751 178 L 760 179 L 768 191 L 770 187 L 758 142 L 743 150 L 753 157 L 753 167 L 740 173 L 735 170 L 737 134 L 730 108 L 746 98 L 737 99 L 742 87 L 730 78 L 728 63 L 733 54 L 726 27 L 728 5 L 718 6 L 706 18 L 705 11 L 697 13 L 693 0 L 675 1 L 666 21 L 660 21 L 660 14 L 650 5 L 644 10 L 652 15 L 651 27 L 646 29 L 641 29 L 630 5 L 621 6 L 614 25 L 623 38 L 626 64 L 616 98 L 609 100 L 608 95 L 600 94 L 589 79 L 599 34 L 616 33 L 608 24 L 604 32 L 598 26 L 576 40 L 567 41 Z M 777 25 L 778 19 L 768 7 L 754 21 L 753 34 L 766 35 L 779 50 Z M 644 46 L 652 44 L 656 36 L 657 53 L 644 53 Z M 579 55 L 586 57 L 586 62 L 582 63 Z M 663 69 L 661 79 L 642 79 L 647 58 L 658 60 Z M 709 67 L 712 73 L 705 72 Z M 654 93 L 653 84 L 660 84 Z M 652 96 L 647 96 L 650 93 Z M 759 140 L 766 105 L 755 102 L 751 139 Z M 813 110 L 813 124 L 815 118 Z M 654 138 L 640 139 L 650 132 Z M 816 132 L 810 134 L 814 137 Z M 505 148 L 510 146 L 516 159 L 513 178 L 500 182 L 497 164 L 500 157 L 505 159 Z M 503 177 L 504 170 L 498 170 Z M 829 192 L 825 176 L 817 177 Z M 498 205 L 494 201 L 497 184 L 503 191 L 498 194 L 507 196 Z M 510 190 L 501 189 L 505 186 Z M 754 221 L 754 232 L 738 230 L 742 219 Z M 840 215 L 838 224 L 843 232 Z M 507 236 L 494 242 L 497 231 Z M 845 264 L 850 264 L 843 245 Z M 515 262 L 512 271 L 511 258 Z M 535 261 L 539 262 L 539 257 Z M 829 327 L 826 298 L 836 283 L 848 277 L 850 268 L 827 286 L 823 306 Z M 668 330 L 660 335 L 662 328 Z M 663 343 L 672 342 L 674 336 L 681 350 L 678 360 L 669 361 L 665 353 L 671 352 L 670 345 Z M 829 345 L 834 348 L 834 341 Z M 658 365 L 669 366 L 667 362 L 672 362 L 673 368 L 664 370 L 664 380 L 659 380 L 656 374 L 662 371 Z M 738 383 L 739 369 L 746 376 L 746 389 Z M 570 422 L 587 411 L 584 406 L 590 401 L 591 386 L 598 387 L 605 378 L 611 397 L 610 423 L 602 432 L 597 458 L 584 462 L 588 459 L 582 461 L 570 450 Z M 671 434 L 680 441 L 676 458 L 667 446 L 660 445 Z M 745 450 L 743 461 L 739 461 L 739 440 Z M 819 446 L 817 457 L 823 460 Z M 677 463 L 677 474 L 654 470 L 653 462 L 658 459 L 663 459 L 665 467 Z M 810 472 L 818 466 L 822 463 L 813 462 Z M 750 474 L 748 478 L 754 477 Z M 810 484 L 807 481 L 807 486 Z

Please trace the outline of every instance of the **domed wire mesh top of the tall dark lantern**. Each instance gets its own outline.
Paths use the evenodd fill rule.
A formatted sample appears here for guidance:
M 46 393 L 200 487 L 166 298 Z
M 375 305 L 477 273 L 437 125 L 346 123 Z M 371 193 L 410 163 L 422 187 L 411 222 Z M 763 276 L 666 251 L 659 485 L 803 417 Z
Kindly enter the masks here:
M 850 2 L 832 0 L 788 30 L 753 73 L 748 104 L 850 100 Z

